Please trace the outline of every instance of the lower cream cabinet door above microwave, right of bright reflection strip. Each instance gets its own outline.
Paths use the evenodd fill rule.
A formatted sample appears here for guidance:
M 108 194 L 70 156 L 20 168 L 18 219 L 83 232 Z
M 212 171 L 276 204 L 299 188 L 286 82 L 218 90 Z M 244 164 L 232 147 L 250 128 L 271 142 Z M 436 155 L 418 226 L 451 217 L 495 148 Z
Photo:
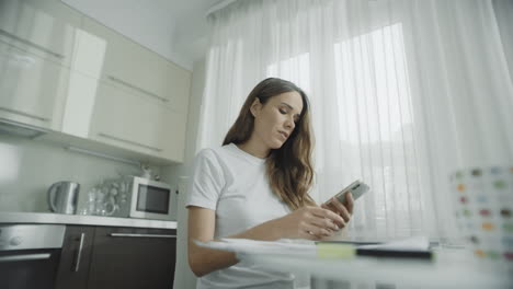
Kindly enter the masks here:
M 173 162 L 183 161 L 185 112 L 100 82 L 92 119 L 92 139 Z

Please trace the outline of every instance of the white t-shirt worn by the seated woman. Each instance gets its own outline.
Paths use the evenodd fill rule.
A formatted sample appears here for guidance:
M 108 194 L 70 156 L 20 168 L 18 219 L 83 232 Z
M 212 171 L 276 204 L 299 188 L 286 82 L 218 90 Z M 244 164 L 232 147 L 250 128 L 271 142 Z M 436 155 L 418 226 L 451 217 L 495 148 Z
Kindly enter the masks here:
M 265 160 L 233 143 L 205 149 L 196 155 L 186 206 L 216 211 L 215 239 L 240 233 L 290 212 L 271 190 Z M 197 288 L 294 288 L 294 275 L 239 262 L 198 278 Z

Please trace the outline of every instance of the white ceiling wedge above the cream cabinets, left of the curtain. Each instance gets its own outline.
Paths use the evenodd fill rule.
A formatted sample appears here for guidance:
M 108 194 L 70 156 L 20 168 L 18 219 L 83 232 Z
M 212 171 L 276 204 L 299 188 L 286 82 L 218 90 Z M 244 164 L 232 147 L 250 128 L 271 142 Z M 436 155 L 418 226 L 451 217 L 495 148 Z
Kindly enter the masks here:
M 233 0 L 61 0 L 192 70 L 208 44 L 207 12 Z

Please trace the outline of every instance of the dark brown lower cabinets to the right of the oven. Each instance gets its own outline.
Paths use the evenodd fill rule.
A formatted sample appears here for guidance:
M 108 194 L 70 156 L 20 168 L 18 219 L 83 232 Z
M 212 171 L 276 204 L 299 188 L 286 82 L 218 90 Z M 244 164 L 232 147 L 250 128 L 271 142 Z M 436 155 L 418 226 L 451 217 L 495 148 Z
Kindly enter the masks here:
M 93 229 L 94 238 L 91 250 L 86 251 L 89 264 L 87 266 L 83 264 L 87 267 L 87 271 L 83 267 L 86 280 L 81 279 L 81 284 L 78 284 L 79 277 L 72 278 L 76 273 L 60 274 L 59 267 L 57 285 L 66 286 L 57 287 L 58 289 L 171 289 L 173 287 L 175 230 L 117 227 Z M 73 230 L 76 229 L 70 230 L 70 234 Z M 75 250 L 68 252 L 75 252 Z M 64 250 L 62 253 L 66 251 Z M 71 253 L 71 255 L 76 254 Z M 73 257 L 61 257 L 62 267 L 68 267 L 70 263 L 68 259 L 73 259 Z M 71 285 L 72 281 L 77 284 Z

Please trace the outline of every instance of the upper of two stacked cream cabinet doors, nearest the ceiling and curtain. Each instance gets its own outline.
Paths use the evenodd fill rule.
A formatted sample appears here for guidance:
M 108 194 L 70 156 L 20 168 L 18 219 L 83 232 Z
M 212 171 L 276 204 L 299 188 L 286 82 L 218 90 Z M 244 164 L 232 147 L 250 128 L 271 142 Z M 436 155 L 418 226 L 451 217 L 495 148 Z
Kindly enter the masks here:
M 94 20 L 84 18 L 82 28 L 84 36 L 80 46 L 86 45 L 90 47 L 88 50 L 95 53 L 89 54 L 93 59 L 87 56 L 77 59 L 76 70 L 101 78 L 128 93 L 157 101 L 160 105 L 186 111 L 190 71 Z M 103 61 L 92 67 L 91 61 L 98 63 L 98 55 L 103 56 Z

